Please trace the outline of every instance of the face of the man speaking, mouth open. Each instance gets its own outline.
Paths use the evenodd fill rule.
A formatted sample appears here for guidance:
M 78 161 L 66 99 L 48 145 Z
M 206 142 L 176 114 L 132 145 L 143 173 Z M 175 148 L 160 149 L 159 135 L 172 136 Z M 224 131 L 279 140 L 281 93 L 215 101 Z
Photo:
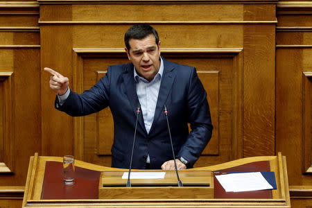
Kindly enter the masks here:
M 130 39 L 129 45 L 130 50 L 125 48 L 125 52 L 139 76 L 153 80 L 160 67 L 160 42 L 157 46 L 154 35 L 148 35 L 142 40 Z

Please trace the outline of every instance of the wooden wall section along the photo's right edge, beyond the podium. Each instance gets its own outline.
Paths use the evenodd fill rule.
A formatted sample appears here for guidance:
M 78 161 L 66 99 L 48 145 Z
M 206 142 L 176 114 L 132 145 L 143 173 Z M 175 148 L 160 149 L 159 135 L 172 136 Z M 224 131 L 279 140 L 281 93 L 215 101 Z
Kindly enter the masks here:
M 311 201 L 311 2 L 277 4 L 276 151 L 286 155 L 292 207 Z

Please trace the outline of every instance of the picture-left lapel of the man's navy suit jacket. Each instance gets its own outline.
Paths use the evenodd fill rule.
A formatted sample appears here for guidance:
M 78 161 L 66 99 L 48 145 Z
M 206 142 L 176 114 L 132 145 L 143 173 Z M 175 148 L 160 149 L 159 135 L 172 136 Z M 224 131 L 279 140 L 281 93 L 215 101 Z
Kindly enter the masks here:
M 139 98 L 137 97 L 137 88 L 135 84 L 135 78 L 133 76 L 133 64 L 128 64 L 126 72 L 123 74 L 123 80 L 125 83 L 125 92 L 127 94 L 128 100 L 130 101 L 130 105 L 132 106 L 132 110 L 137 116 L 137 106 L 139 105 Z M 143 128 L 146 132 L 146 128 L 144 125 L 144 119 L 142 113 L 139 114 L 139 125 Z M 147 132 L 146 132 L 147 134 Z

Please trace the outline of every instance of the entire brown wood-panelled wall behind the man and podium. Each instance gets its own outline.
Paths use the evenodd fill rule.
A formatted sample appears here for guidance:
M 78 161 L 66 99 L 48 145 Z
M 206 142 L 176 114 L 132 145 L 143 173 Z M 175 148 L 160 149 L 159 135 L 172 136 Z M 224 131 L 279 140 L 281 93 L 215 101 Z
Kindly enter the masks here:
M 197 68 L 214 132 L 196 166 L 286 155 L 293 207 L 312 206 L 311 1 L 0 1 L 0 207 L 20 207 L 29 157 L 110 166 L 112 116 L 54 109 L 51 67 L 83 92 L 128 62 L 123 34 L 154 26 L 168 60 Z

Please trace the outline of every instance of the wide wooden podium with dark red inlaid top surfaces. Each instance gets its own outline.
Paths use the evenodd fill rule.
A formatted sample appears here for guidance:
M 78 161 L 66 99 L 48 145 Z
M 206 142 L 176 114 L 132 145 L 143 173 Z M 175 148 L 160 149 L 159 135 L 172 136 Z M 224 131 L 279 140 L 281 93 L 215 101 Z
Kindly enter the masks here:
M 186 184 L 187 180 L 195 178 L 192 174 L 204 173 L 207 181 L 210 178 L 209 187 L 204 186 L 206 192 L 202 192 L 200 189 L 203 187 L 200 186 L 120 187 L 119 189 L 115 186 L 113 187 L 115 191 L 106 187 L 106 190 L 102 192 L 101 189 L 105 183 L 123 183 L 123 181 L 118 182 L 119 176 L 127 170 L 98 166 L 79 160 L 76 160 L 75 166 L 76 183 L 73 186 L 64 186 L 62 184 L 62 157 L 38 157 L 37 154 L 31 157 L 23 207 L 291 207 L 286 159 L 281 156 L 281 153 L 277 156 L 248 157 L 215 166 L 180 171 L 182 183 Z M 274 171 L 277 189 L 240 193 L 225 192 L 213 174 L 207 170 L 214 175 L 241 171 Z M 114 177 L 108 177 L 109 175 L 114 175 L 115 179 L 116 177 L 119 179 L 112 180 Z M 174 182 L 174 174 L 169 171 L 168 177 L 171 177 L 170 175 L 172 176 L 171 182 Z M 136 182 L 133 181 L 133 183 Z M 122 195 L 125 189 L 128 194 L 133 192 L 132 196 L 131 194 L 128 197 L 118 196 Z M 138 191 L 134 191 L 135 189 Z M 178 190 L 177 194 L 171 198 L 170 195 L 175 190 Z

